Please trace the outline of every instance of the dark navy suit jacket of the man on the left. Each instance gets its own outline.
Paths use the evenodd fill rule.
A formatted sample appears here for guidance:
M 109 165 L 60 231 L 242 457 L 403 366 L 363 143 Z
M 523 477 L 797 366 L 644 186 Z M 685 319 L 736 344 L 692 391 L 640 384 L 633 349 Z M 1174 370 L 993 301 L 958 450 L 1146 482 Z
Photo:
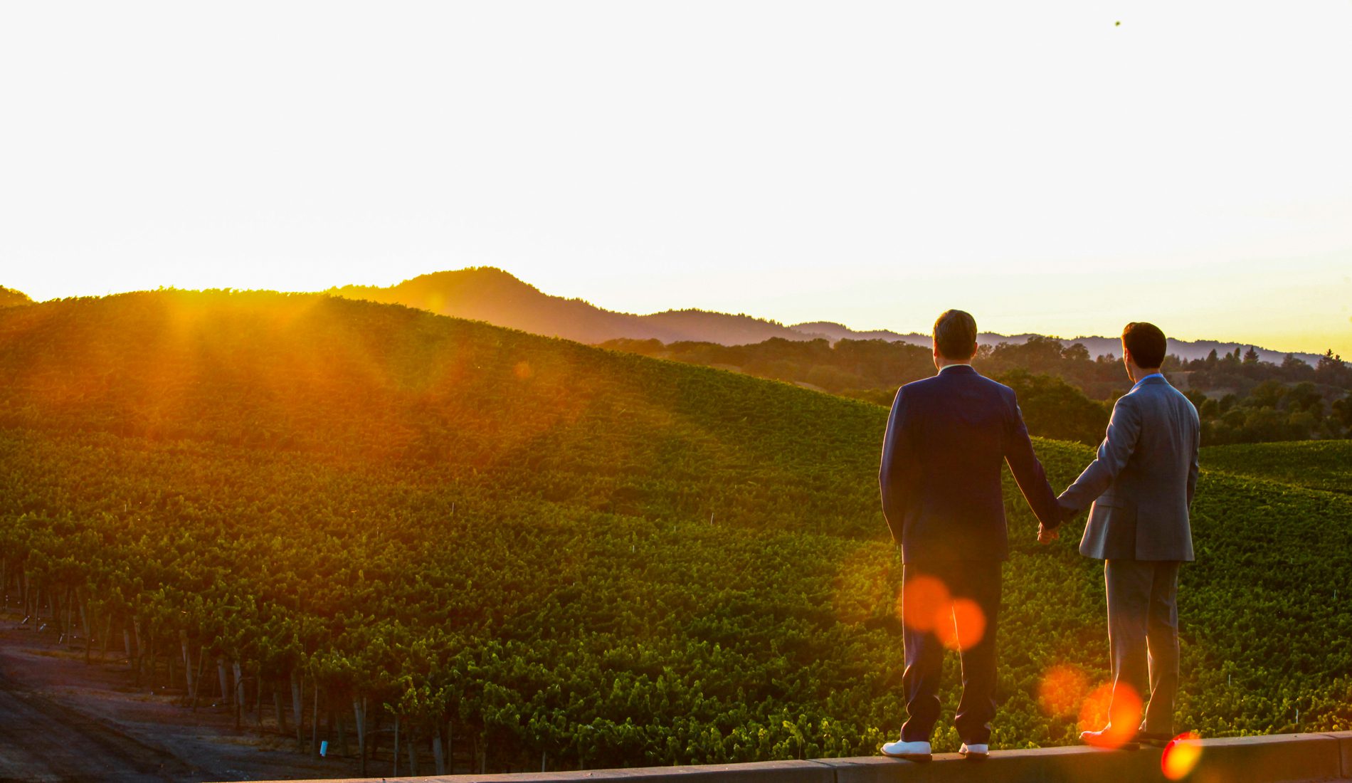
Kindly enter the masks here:
M 1006 560 L 1003 462 L 1038 521 L 1059 525 L 1014 389 L 961 364 L 898 389 L 877 481 L 902 560 Z

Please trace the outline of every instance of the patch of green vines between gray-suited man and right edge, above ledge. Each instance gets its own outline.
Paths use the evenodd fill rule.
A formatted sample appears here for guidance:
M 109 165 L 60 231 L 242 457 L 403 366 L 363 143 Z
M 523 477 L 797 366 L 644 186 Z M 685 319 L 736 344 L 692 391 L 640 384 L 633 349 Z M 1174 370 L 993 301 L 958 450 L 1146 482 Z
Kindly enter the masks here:
M 1352 498 L 1224 475 L 1203 490 L 1197 563 L 1179 590 L 1180 617 L 1205 618 L 1184 633 L 1195 683 L 1184 725 L 1211 736 L 1352 726 Z

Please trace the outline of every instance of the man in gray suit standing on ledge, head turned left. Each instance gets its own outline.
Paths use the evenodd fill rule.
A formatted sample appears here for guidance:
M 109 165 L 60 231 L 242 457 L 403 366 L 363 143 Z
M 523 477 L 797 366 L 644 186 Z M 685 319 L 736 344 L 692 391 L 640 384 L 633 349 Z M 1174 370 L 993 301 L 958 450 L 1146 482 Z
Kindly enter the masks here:
M 1151 323 L 1128 323 L 1122 361 L 1136 381 L 1113 406 L 1098 458 L 1057 502 L 1067 515 L 1092 502 L 1080 554 L 1103 560 L 1107 634 L 1113 661 L 1110 715 L 1145 701 L 1145 721 L 1084 732 L 1088 745 L 1124 746 L 1174 736 L 1179 683 L 1179 564 L 1192 560 L 1188 507 L 1197 487 L 1201 425 L 1197 408 L 1164 376 L 1164 333 Z M 1057 534 L 1042 527 L 1038 541 Z M 1146 687 L 1149 690 L 1146 690 Z M 1132 694 L 1124 694 L 1132 688 Z M 1136 709 L 1128 707 L 1132 713 Z

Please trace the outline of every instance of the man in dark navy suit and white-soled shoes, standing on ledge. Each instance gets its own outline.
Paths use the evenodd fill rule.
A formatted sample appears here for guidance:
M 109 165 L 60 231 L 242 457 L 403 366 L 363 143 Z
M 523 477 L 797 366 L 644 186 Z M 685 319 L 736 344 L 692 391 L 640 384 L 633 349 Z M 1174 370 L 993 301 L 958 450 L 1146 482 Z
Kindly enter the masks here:
M 1046 527 L 1063 510 L 1023 426 L 1014 389 L 972 369 L 976 321 L 949 310 L 934 322 L 938 375 L 896 392 L 883 441 L 879 485 L 892 540 L 902 546 L 903 592 L 933 592 L 942 583 L 952 599 L 967 599 L 984 617 L 984 630 L 956 627 L 963 663 L 963 698 L 955 725 L 963 755 L 984 757 L 995 717 L 995 633 L 999 626 L 1000 563 L 1009 557 L 1000 467 L 1009 464 L 1019 490 Z M 923 579 L 925 582 L 918 582 Z M 919 599 L 917 599 L 919 600 Z M 955 614 L 907 599 L 903 617 L 909 719 L 900 740 L 883 753 L 930 759 L 938 721 L 944 644 L 955 636 Z M 971 606 L 968 603 L 967 606 Z M 938 632 L 938 633 L 936 633 Z M 963 640 L 963 634 L 968 638 Z M 979 638 L 975 638 L 977 637 Z

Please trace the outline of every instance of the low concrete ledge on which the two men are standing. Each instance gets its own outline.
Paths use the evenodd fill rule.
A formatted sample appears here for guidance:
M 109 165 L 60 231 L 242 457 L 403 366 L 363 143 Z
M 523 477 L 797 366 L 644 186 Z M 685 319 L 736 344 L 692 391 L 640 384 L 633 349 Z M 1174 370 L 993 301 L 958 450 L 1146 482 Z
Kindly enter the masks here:
M 1305 783 L 1352 780 L 1352 732 L 1272 734 L 1203 740 L 1202 756 L 1187 778 L 1195 783 Z M 1138 783 L 1165 780 L 1161 751 L 1098 751 L 1084 746 L 995 751 L 984 761 L 940 753 L 927 764 L 883 756 L 758 761 L 692 767 L 641 767 L 581 772 L 419 776 L 437 783 L 527 783 L 545 780 L 634 780 L 641 783 Z M 377 783 L 385 778 L 349 779 Z M 337 782 L 331 782 L 337 783 Z

